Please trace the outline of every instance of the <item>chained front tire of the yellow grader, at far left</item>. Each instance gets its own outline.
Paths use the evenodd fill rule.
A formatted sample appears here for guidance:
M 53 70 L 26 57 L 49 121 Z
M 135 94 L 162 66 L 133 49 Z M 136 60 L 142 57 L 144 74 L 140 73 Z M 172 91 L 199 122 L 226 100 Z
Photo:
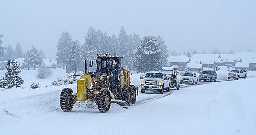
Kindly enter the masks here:
M 76 99 L 72 93 L 73 90 L 71 88 L 64 88 L 60 93 L 60 108 L 64 112 L 69 112 L 73 109 Z

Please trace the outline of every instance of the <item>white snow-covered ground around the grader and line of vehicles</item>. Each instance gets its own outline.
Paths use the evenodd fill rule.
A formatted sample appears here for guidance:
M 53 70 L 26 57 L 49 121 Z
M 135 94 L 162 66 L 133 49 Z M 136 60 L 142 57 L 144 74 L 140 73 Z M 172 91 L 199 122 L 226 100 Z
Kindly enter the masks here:
M 64 70 L 53 69 L 47 79 L 22 70 L 21 88 L 0 92 L 0 135 L 255 135 L 256 72 L 248 71 L 248 79 L 221 80 L 227 73 L 217 71 L 219 82 L 182 85 L 164 94 L 139 92 L 128 109 L 112 103 L 109 112 L 100 113 L 90 101 L 61 111 L 60 91 L 76 90 L 76 84 L 50 86 L 56 77 L 67 78 Z M 139 86 L 139 76 L 133 73 L 132 84 Z M 32 82 L 41 88 L 31 90 Z

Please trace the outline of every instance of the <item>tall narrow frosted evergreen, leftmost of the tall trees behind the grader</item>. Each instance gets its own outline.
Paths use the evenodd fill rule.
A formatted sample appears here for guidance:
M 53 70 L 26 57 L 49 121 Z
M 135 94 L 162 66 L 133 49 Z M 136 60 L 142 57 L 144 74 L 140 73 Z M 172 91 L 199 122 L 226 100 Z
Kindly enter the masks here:
M 63 64 L 63 69 L 65 69 L 65 60 L 68 57 L 68 47 L 72 45 L 71 37 L 68 31 L 63 31 L 57 45 L 57 64 Z

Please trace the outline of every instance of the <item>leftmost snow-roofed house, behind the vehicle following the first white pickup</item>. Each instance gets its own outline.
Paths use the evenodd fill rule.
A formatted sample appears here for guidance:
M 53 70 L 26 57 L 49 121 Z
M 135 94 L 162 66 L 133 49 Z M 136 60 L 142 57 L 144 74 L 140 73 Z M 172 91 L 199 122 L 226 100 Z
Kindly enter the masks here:
M 186 64 L 190 63 L 190 58 L 184 55 L 181 56 L 169 56 L 167 58 L 167 65 L 170 67 L 176 67 L 179 71 L 184 71 Z

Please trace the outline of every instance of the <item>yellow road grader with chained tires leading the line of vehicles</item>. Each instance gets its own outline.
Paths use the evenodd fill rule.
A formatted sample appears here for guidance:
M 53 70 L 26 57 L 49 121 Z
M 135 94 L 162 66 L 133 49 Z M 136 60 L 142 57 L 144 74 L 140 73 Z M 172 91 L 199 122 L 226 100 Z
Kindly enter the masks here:
M 90 67 L 96 65 L 96 71 L 71 75 L 71 78 L 81 76 L 77 81 L 77 93 L 71 88 L 64 88 L 60 93 L 60 108 L 64 112 L 71 111 L 76 101 L 94 101 L 99 112 L 108 112 L 111 103 L 119 105 L 135 104 L 138 87 L 130 85 L 131 72 L 121 67 L 121 59 L 115 54 L 97 54 L 90 60 Z M 95 62 L 95 64 L 94 64 Z

